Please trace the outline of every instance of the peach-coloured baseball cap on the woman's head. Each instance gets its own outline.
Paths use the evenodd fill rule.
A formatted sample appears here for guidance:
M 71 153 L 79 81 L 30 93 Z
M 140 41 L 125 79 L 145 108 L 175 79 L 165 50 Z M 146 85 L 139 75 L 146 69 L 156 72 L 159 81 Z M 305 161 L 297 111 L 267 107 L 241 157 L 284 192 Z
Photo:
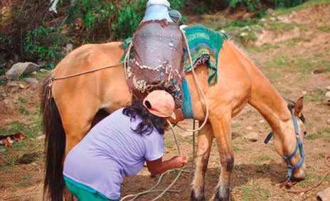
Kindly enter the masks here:
M 151 114 L 160 117 L 169 117 L 176 119 L 174 114 L 174 99 L 168 92 L 163 90 L 154 90 L 150 92 L 143 100 L 143 106 Z

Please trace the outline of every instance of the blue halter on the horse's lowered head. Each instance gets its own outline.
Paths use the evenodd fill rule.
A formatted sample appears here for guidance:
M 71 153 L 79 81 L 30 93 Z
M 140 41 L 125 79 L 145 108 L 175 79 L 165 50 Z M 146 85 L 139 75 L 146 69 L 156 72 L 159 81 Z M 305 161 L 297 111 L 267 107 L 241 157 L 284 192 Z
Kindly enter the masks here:
M 302 165 L 302 163 L 304 162 L 304 158 L 305 158 L 304 151 L 302 150 L 302 141 L 300 141 L 300 138 L 299 138 L 297 118 L 294 115 L 294 113 L 292 112 L 292 110 L 291 110 L 291 113 L 292 113 L 292 120 L 293 120 L 293 124 L 294 124 L 294 131 L 296 133 L 296 138 L 297 138 L 297 146 L 296 146 L 296 149 L 294 149 L 294 151 L 289 156 L 283 156 L 283 159 L 287 163 L 287 168 L 288 168 L 288 170 L 287 170 L 287 180 L 289 180 L 292 177 L 292 171 L 294 169 L 299 168 L 300 165 Z M 270 141 L 270 138 L 272 138 L 272 136 L 273 136 L 273 132 L 270 132 L 270 134 L 268 134 L 268 136 L 265 138 L 264 143 L 267 144 L 268 141 Z M 294 155 L 296 155 L 296 153 L 298 151 L 298 148 L 299 148 L 301 158 L 300 158 L 299 162 L 296 165 L 292 165 L 290 159 Z

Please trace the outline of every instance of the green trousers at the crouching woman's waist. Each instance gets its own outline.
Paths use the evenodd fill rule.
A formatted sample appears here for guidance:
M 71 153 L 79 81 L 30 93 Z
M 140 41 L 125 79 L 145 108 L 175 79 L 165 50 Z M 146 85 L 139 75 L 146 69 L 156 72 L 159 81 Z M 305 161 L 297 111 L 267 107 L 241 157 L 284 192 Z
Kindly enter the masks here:
M 68 190 L 78 198 L 79 201 L 118 201 L 110 200 L 109 198 L 102 195 L 102 193 L 97 192 L 96 190 L 89 188 L 85 185 L 75 182 L 70 178 L 64 176 L 65 185 Z

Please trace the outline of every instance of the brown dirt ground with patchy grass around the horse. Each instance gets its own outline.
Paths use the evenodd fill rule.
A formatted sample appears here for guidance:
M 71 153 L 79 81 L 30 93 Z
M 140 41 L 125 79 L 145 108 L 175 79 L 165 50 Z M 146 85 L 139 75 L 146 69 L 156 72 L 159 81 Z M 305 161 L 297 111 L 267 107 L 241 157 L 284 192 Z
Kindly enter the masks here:
M 260 67 L 272 84 L 289 99 L 304 96 L 304 116 L 307 137 L 304 140 L 306 180 L 294 189 L 308 188 L 329 172 L 324 165 L 324 154 L 330 154 L 330 106 L 326 102 L 326 87 L 330 86 L 330 4 L 292 9 L 275 16 L 277 22 L 294 24 L 294 28 L 277 33 L 265 26 L 258 33 L 255 45 L 246 52 Z M 314 70 L 321 73 L 313 73 Z M 323 72 L 322 72 L 323 71 Z M 220 72 L 221 73 L 221 72 Z M 43 79 L 45 72 L 35 76 Z M 20 86 L 19 84 L 23 85 Z M 44 174 L 43 136 L 38 109 L 38 87 L 22 80 L 0 85 L 0 135 L 21 130 L 27 138 L 11 148 L 0 147 L 0 200 L 42 200 Z M 181 123 L 191 128 L 193 121 Z M 231 200 L 316 200 L 316 193 L 330 186 L 330 177 L 318 188 L 307 193 L 290 194 L 279 183 L 285 180 L 287 165 L 275 152 L 272 141 L 266 146 L 264 138 L 270 126 L 252 107 L 243 109 L 232 121 L 235 167 L 231 179 Z M 246 135 L 257 133 L 257 141 Z M 181 152 L 192 158 L 193 138 L 176 129 Z M 19 163 L 24 153 L 36 153 L 32 162 Z M 177 155 L 171 132 L 165 134 L 165 156 Z M 2 162 L 1 162 L 2 159 Z M 166 188 L 178 172 L 165 175 L 159 188 Z M 213 141 L 205 193 L 208 200 L 215 192 L 220 175 L 218 148 Z M 181 193 L 166 193 L 160 200 L 189 200 L 193 174 L 183 173 L 173 189 Z M 151 178 L 147 168 L 122 183 L 122 197 L 151 188 L 158 177 Z M 137 200 L 152 200 L 158 193 L 149 193 Z

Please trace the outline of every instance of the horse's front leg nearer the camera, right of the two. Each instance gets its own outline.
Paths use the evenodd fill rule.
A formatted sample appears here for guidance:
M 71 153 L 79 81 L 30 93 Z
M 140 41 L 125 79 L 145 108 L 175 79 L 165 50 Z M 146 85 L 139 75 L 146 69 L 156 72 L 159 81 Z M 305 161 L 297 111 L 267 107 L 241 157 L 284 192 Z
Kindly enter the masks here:
M 234 167 L 233 146 L 230 134 L 230 112 L 210 114 L 215 140 L 220 154 L 221 173 L 217 191 L 211 200 L 229 200 L 230 175 Z

